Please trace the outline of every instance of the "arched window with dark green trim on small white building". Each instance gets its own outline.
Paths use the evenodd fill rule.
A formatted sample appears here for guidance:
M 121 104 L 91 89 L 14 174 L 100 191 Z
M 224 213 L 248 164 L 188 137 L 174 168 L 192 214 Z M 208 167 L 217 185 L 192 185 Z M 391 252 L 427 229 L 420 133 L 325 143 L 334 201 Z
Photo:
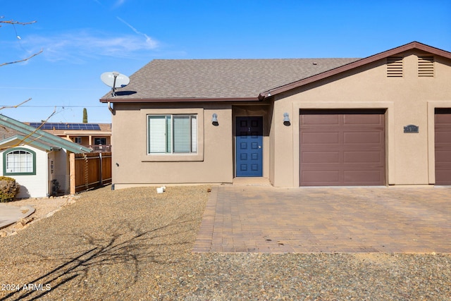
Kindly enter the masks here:
M 36 174 L 36 153 L 30 149 L 9 149 L 3 160 L 4 176 Z

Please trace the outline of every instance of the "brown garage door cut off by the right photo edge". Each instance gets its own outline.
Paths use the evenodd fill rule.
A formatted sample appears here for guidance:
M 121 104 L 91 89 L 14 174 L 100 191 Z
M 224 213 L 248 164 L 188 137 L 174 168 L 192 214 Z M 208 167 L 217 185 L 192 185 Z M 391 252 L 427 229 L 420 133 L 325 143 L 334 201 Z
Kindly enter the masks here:
M 435 185 L 451 185 L 451 109 L 435 109 Z

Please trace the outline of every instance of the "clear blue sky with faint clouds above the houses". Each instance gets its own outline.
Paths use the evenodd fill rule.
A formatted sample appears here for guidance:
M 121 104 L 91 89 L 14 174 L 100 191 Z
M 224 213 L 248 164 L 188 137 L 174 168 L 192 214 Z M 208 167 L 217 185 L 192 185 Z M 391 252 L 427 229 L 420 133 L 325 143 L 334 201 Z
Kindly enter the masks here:
M 153 59 L 363 58 L 412 41 L 451 51 L 450 0 L 0 0 L 0 113 L 109 123 L 101 73 Z M 20 38 L 19 38 L 20 37 Z

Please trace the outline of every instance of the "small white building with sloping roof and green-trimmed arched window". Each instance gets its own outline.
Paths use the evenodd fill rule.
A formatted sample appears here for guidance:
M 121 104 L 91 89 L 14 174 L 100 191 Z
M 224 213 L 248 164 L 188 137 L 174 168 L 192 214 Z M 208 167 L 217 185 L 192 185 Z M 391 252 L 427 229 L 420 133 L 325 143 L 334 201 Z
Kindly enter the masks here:
M 18 198 L 68 193 L 70 152 L 91 149 L 0 114 L 0 172 L 16 179 Z

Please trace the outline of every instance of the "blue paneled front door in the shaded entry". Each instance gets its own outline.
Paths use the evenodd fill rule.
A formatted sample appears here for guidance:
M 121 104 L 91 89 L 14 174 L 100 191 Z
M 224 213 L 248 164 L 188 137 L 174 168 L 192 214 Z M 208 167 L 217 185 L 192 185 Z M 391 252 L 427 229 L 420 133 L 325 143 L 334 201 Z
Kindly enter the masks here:
M 237 117 L 237 177 L 263 176 L 263 117 Z

